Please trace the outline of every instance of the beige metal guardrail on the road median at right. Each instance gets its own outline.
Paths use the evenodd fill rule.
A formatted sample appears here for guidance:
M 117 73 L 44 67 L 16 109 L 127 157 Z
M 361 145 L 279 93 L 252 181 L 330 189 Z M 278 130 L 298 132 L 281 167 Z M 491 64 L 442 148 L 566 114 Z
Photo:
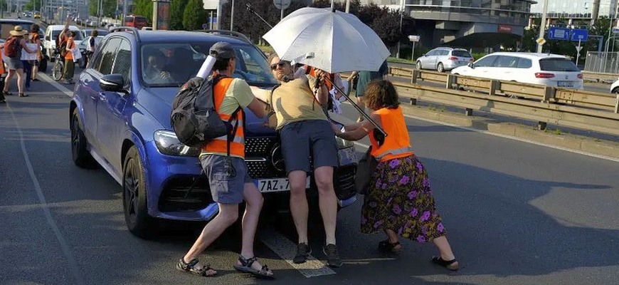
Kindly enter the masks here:
M 411 83 L 393 82 L 398 93 L 417 100 L 455 105 L 526 120 L 619 135 L 619 95 L 569 90 L 526 83 L 456 76 L 435 71 L 390 68 L 392 76 L 411 78 Z M 444 83 L 445 87 L 417 84 Z

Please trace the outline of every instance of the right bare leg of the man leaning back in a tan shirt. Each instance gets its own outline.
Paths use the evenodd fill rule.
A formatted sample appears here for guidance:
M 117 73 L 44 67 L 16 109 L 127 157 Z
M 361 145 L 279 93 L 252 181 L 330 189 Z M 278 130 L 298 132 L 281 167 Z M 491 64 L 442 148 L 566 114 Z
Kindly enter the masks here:
M 333 189 L 333 167 L 322 166 L 314 170 L 320 214 L 324 222 L 327 244 L 335 244 L 335 227 L 337 223 L 337 197 Z

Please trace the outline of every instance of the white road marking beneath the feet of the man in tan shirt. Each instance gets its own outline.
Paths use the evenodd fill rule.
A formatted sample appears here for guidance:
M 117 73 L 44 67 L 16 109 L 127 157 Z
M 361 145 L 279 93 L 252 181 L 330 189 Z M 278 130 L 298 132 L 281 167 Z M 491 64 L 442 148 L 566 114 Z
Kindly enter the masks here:
M 265 232 L 260 235 L 260 242 L 263 242 L 263 244 L 281 257 L 282 260 L 286 261 L 290 266 L 297 269 L 297 271 L 307 278 L 335 274 L 335 271 L 322 263 L 322 261 L 312 257 L 311 254 L 303 264 L 295 264 L 292 262 L 292 259 L 297 253 L 297 244 L 291 242 L 290 239 L 287 239 L 281 234 L 276 232 Z M 312 250 L 315 251 L 316 249 Z

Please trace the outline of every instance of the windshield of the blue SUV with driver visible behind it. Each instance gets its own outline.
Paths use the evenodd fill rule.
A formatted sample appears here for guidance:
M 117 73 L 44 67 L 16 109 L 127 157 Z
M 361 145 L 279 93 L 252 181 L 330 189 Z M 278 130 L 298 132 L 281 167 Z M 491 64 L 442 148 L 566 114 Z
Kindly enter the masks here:
M 213 42 L 214 43 L 214 42 Z M 142 46 L 142 80 L 150 87 L 181 86 L 196 76 L 213 43 L 149 43 Z M 252 86 L 277 84 L 264 54 L 250 44 L 234 45 L 236 68 L 233 77 Z M 169 76 L 162 76 L 169 73 Z

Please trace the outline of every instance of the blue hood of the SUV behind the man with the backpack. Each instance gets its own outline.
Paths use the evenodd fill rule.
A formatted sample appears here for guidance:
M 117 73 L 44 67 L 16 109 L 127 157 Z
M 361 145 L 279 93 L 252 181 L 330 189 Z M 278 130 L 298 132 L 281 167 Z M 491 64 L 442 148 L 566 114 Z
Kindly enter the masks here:
M 172 101 L 179 92 L 178 87 L 144 88 L 138 93 L 138 103 L 150 113 L 166 130 L 172 130 L 170 113 Z M 257 118 L 245 108 L 246 135 L 275 135 L 275 130 L 265 127 L 263 119 Z

